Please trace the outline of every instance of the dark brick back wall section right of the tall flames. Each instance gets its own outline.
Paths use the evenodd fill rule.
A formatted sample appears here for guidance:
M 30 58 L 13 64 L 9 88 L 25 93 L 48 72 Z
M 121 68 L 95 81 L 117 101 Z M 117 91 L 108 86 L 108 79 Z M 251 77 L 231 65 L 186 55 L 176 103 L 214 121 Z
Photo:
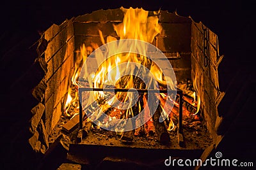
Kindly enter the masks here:
M 156 46 L 172 64 L 177 81 L 191 79 L 191 20 L 168 11 L 159 12 L 163 31 L 156 37 Z M 179 52 L 179 59 L 170 55 Z

